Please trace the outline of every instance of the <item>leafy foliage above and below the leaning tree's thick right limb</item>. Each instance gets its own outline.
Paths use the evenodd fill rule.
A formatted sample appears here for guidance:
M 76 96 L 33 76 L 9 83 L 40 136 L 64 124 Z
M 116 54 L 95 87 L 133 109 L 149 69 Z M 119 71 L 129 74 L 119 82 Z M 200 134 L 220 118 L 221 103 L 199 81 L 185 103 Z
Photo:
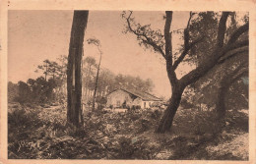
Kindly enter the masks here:
M 216 16 L 211 16 L 213 13 L 207 12 L 198 13 L 197 15 L 199 17 L 196 18 L 196 20 L 191 21 L 191 36 L 199 34 L 200 31 L 207 31 L 209 33 L 212 32 L 210 35 L 211 37 L 206 35 L 207 37 L 205 39 L 208 40 L 208 42 L 213 41 L 213 38 L 216 37 L 217 33 L 214 32 L 211 27 L 217 26 L 219 14 L 216 14 Z M 232 32 L 234 32 L 240 26 L 239 24 L 246 23 L 246 20 L 238 20 L 236 13 L 230 13 L 230 17 L 228 19 L 230 20 L 227 20 L 227 29 L 224 42 L 228 41 Z M 246 35 L 247 33 L 245 32 L 239 39 L 244 39 Z M 198 64 L 204 62 L 205 59 L 202 58 L 202 55 L 205 55 L 206 48 L 209 48 L 209 46 L 205 47 L 206 43 L 207 42 L 204 41 L 196 45 L 200 46 L 200 48 L 197 48 L 197 51 L 192 49 L 190 51 L 191 53 L 188 54 L 189 56 L 187 61 L 198 62 Z M 210 45 L 214 45 L 214 42 L 212 42 Z M 193 53 L 195 55 L 193 55 Z M 192 59 L 193 57 L 195 60 Z M 208 108 L 220 108 L 216 105 L 218 103 L 218 99 L 221 98 L 218 94 L 222 88 L 228 87 L 226 98 L 222 97 L 222 99 L 225 101 L 224 104 L 226 105 L 226 110 L 248 108 L 248 94 L 246 93 L 248 86 L 241 82 L 241 79 L 231 82 L 233 77 L 237 75 L 235 72 L 246 73 L 246 70 L 248 70 L 248 53 L 246 51 L 220 62 L 199 81 L 192 83 L 186 88 L 183 93 L 184 99 L 181 101 L 181 104 L 183 103 L 183 106 L 189 107 L 189 104 L 185 102 L 187 100 L 188 103 L 194 102 L 194 104 L 206 104 Z M 244 77 L 246 77 L 246 74 L 244 74 Z M 228 83 L 229 81 L 231 82 L 230 84 L 224 85 L 224 83 Z

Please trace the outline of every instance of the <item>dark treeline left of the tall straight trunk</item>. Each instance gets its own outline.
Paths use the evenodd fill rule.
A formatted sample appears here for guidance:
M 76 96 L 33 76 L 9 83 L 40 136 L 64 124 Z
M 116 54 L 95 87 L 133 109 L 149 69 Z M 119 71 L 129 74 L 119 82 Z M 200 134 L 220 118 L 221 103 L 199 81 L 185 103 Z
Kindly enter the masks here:
M 29 79 L 27 82 L 8 82 L 9 102 L 38 104 L 63 102 L 66 94 L 66 61 L 66 56 L 61 56 L 56 62 L 46 59 L 34 71 L 43 76 Z

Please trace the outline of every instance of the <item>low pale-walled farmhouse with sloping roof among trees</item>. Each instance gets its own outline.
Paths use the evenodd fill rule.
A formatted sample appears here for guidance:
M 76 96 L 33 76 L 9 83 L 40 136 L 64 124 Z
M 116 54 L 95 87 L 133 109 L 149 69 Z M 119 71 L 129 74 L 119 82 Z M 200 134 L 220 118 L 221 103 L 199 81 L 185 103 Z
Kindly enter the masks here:
M 147 92 L 131 91 L 124 88 L 118 88 L 108 93 L 106 107 L 126 108 L 132 106 L 140 106 L 142 109 L 150 108 L 154 102 L 162 101 Z

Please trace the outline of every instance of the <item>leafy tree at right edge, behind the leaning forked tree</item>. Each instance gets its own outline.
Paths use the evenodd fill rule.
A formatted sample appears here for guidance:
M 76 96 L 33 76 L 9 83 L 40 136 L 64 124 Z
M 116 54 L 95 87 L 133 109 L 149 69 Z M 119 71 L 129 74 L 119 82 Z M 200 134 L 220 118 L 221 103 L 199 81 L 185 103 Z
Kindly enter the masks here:
M 205 52 L 213 48 L 209 46 L 211 42 L 214 45 L 215 38 L 217 36 L 218 17 L 213 12 L 204 12 L 197 14 L 198 17 L 192 20 L 190 25 L 190 37 L 196 38 L 199 33 L 205 33 L 204 43 L 196 45 L 188 53 L 185 61 L 192 62 L 196 65 L 204 63 Z M 243 17 L 235 12 L 229 13 L 227 20 L 228 27 L 226 28 L 224 41 L 227 41 L 229 36 L 239 27 L 239 25 L 248 22 L 248 15 Z M 211 34 L 207 34 L 211 33 Z M 241 35 L 238 40 L 243 40 L 248 37 L 248 33 Z M 241 79 L 248 74 L 248 47 L 242 47 L 226 53 L 224 57 L 219 60 L 211 71 L 209 71 L 199 81 L 190 84 L 189 88 L 192 88 L 195 95 L 192 97 L 192 101 L 198 101 L 199 104 L 205 103 L 208 108 L 214 108 L 218 114 L 219 122 L 224 121 L 225 108 L 236 109 L 246 107 L 246 84 L 241 82 Z M 233 87 L 236 89 L 233 89 Z M 186 87 L 185 91 L 188 87 Z M 239 91 L 238 91 L 239 90 Z M 185 92 L 184 91 L 184 92 Z M 237 94 L 237 91 L 239 94 Z M 235 94 L 236 93 L 236 94 Z M 191 95 L 190 95 L 191 96 Z M 183 99 L 184 101 L 185 99 Z M 181 100 L 182 101 L 182 100 Z M 239 102 L 239 103 L 236 103 Z M 232 104 L 232 105 L 231 105 Z M 201 105 L 200 105 L 201 107 Z

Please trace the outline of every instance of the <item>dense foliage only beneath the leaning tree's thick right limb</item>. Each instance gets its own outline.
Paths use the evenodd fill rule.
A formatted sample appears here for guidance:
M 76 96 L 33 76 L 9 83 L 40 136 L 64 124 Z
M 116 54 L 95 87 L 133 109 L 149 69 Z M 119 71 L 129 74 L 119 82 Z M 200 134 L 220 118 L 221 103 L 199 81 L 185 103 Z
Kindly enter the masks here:
M 216 66 L 205 77 L 190 85 L 183 97 L 194 104 L 206 104 L 208 108 L 216 106 L 222 88 L 226 88 L 224 104 L 226 110 L 248 108 L 248 84 L 242 82 L 247 77 L 248 54 L 241 54 Z M 238 76 L 237 76 L 238 75 Z M 241 77 L 239 77 L 241 76 Z M 238 79 L 237 79 L 238 78 Z

